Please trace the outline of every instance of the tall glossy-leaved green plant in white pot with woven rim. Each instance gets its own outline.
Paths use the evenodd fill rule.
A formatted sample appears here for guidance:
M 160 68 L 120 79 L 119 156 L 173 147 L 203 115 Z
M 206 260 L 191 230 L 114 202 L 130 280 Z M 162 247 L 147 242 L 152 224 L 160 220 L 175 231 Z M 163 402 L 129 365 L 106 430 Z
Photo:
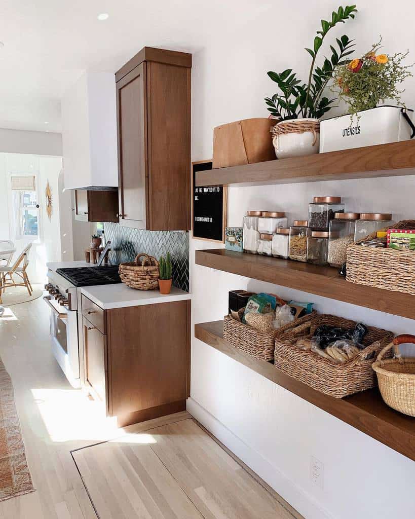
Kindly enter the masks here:
M 328 99 L 324 90 L 333 77 L 337 66 L 347 63 L 346 57 L 353 52 L 353 40 L 347 35 L 336 38 L 337 48 L 330 45 L 331 57 L 324 58 L 321 66 L 316 66 L 317 54 L 324 38 L 338 23 L 354 18 L 356 6 L 339 7 L 331 14 L 331 20 L 322 20 L 322 29 L 314 37 L 313 48 L 306 48 L 311 56 L 308 82 L 297 78 L 293 69 L 280 74 L 268 72 L 268 76 L 278 85 L 278 92 L 265 98 L 272 117 L 280 119 L 272 130 L 273 145 L 277 158 L 294 157 L 319 153 L 320 118 L 336 101 Z

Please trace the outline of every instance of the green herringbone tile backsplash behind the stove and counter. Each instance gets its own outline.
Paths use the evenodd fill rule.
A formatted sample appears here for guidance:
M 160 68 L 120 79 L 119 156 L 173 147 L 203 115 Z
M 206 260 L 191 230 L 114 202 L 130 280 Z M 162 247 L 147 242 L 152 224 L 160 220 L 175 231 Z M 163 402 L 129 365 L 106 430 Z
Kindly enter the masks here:
M 189 291 L 189 233 L 185 231 L 149 231 L 104 223 L 105 239 L 111 241 L 110 260 L 114 264 L 133 261 L 140 252 L 159 260 L 171 254 L 173 285 Z

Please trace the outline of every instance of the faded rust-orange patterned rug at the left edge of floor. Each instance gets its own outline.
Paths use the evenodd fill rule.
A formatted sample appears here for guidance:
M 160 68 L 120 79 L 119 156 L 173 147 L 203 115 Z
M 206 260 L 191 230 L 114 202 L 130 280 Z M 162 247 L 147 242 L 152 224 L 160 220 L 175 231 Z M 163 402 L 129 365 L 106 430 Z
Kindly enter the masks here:
M 13 386 L 0 359 L 0 501 L 33 492 Z

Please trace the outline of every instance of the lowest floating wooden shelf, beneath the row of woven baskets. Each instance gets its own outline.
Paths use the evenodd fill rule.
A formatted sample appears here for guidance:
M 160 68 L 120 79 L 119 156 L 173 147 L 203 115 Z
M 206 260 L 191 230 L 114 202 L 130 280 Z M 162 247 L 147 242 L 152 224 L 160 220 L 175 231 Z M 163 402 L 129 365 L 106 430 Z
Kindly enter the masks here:
M 270 362 L 255 359 L 227 343 L 223 338 L 223 321 L 195 324 L 195 336 L 275 384 L 415 461 L 415 418 L 388 407 L 377 388 L 343 399 L 315 391 L 285 375 Z

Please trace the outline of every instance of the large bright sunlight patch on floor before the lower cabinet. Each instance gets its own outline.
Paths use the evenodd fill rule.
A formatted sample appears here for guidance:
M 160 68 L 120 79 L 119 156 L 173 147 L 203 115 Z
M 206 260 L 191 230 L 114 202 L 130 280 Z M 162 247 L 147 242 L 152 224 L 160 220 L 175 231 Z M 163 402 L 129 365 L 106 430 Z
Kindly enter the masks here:
M 102 402 L 80 389 L 32 389 L 52 442 L 103 441 L 123 434 L 115 417 L 106 418 Z

